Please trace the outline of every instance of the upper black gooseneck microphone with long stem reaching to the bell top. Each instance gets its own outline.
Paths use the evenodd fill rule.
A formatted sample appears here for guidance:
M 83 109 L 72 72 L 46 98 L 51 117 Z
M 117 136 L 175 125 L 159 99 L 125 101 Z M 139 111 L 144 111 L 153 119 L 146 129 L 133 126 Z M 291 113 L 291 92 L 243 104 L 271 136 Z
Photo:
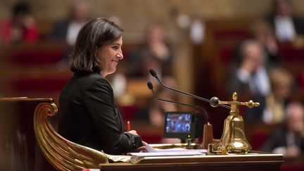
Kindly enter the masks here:
M 166 89 L 170 89 L 172 91 L 176 91 L 180 94 L 185 94 L 186 96 L 191 96 L 192 98 L 195 98 L 195 99 L 198 99 L 198 100 L 201 100 L 201 101 L 205 101 L 205 102 L 208 102 L 210 103 L 210 106 L 213 106 L 213 108 L 217 107 L 217 106 L 222 106 L 223 108 L 230 108 L 230 106 L 226 106 L 226 105 L 223 105 L 223 104 L 219 104 L 219 101 L 220 99 L 218 99 L 217 97 L 213 97 L 211 98 L 210 100 L 208 99 L 205 99 L 203 97 L 200 97 L 200 96 L 196 96 L 194 94 L 189 94 L 187 92 L 184 92 L 184 91 L 180 91 L 178 89 L 173 89 L 171 87 L 167 87 L 165 84 L 163 84 L 163 82 L 160 81 L 160 79 L 158 78 L 158 75 L 156 74 L 155 70 L 151 69 L 149 70 L 150 72 L 150 75 L 152 75 L 152 77 L 155 77 L 156 80 L 158 80 L 158 82 L 163 86 L 165 87 Z M 150 88 L 149 88 L 150 89 Z

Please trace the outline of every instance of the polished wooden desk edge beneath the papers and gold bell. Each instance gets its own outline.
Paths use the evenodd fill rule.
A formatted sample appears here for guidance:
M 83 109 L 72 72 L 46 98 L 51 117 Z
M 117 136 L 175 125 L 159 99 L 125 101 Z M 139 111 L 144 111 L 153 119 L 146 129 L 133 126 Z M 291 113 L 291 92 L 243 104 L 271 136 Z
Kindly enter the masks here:
M 101 170 L 280 170 L 283 162 L 282 155 L 269 153 L 231 156 L 179 156 L 174 158 L 147 158 L 141 160 L 139 164 L 101 164 Z

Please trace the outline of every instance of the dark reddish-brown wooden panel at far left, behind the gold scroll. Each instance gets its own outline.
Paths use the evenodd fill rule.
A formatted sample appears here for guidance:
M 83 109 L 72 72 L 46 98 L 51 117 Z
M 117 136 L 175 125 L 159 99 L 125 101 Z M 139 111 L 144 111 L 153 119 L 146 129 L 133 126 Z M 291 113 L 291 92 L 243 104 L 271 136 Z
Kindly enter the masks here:
M 0 99 L 0 170 L 52 168 L 39 151 L 33 115 L 38 103 L 53 99 Z

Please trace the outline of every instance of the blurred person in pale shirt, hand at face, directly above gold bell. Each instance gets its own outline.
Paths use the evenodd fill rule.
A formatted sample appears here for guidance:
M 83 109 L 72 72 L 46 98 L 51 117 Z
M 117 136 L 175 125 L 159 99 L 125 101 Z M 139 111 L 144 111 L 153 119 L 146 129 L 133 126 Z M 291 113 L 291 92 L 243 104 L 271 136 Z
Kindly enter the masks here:
M 270 92 L 270 80 L 265 68 L 262 46 L 248 39 L 240 46 L 241 63 L 231 80 L 230 92 L 239 91 L 249 96 L 266 96 Z

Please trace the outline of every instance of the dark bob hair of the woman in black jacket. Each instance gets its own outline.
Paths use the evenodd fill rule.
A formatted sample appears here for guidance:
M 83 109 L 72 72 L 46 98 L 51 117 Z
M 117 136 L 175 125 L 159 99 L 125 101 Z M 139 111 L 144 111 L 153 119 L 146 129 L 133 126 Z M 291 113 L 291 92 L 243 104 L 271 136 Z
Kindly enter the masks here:
M 106 18 L 89 21 L 78 33 L 75 49 L 70 57 L 70 70 L 75 73 L 100 72 L 96 48 L 115 42 L 123 30 Z

